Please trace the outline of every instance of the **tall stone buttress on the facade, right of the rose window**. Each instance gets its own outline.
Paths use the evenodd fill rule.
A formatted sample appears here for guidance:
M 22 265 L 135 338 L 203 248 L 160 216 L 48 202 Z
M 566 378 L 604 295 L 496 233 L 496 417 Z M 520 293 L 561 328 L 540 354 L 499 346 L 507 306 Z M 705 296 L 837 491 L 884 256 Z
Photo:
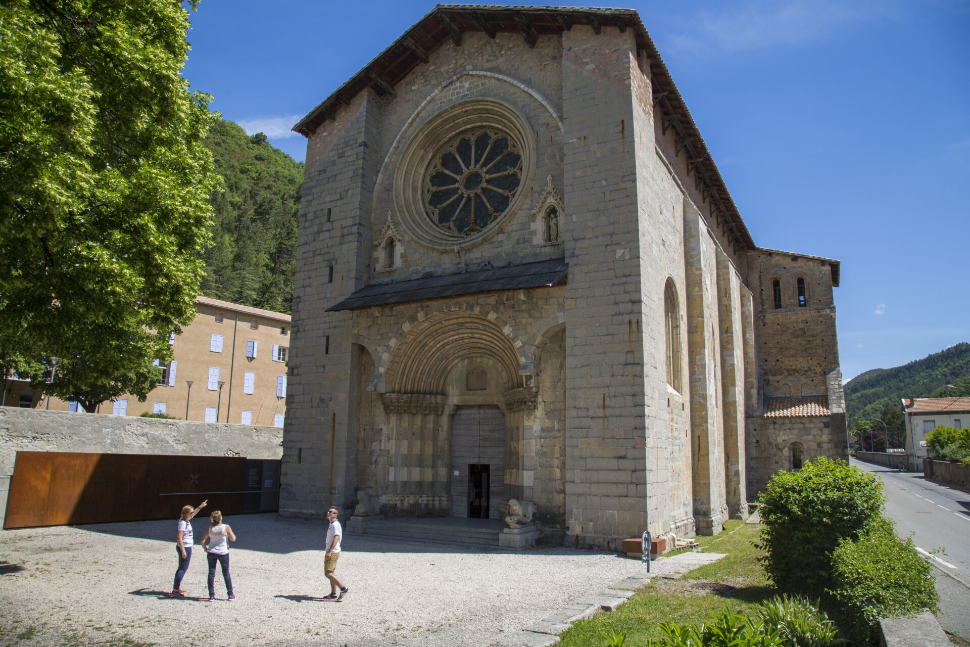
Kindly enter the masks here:
M 626 132 L 635 44 L 630 31 L 574 26 L 563 51 L 566 542 L 612 548 L 647 521 L 644 350 L 633 334 L 642 276 L 630 249 L 638 187 Z

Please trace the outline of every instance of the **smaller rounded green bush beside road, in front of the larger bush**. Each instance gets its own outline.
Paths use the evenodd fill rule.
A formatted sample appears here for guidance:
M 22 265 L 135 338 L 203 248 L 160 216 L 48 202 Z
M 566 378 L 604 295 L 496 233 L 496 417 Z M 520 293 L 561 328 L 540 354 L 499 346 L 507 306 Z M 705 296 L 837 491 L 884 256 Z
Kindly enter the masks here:
M 940 601 L 929 562 L 911 537 L 896 536 L 888 519 L 860 539 L 839 544 L 826 593 L 840 627 L 860 645 L 876 643 L 880 618 L 936 612 Z

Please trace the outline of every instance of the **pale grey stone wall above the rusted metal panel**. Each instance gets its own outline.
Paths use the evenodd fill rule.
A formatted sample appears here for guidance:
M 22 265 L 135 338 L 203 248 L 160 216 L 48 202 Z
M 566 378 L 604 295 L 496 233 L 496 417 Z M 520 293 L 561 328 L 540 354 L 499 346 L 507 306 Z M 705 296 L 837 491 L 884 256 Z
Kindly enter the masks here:
M 265 460 L 282 457 L 282 439 L 277 427 L 0 406 L 0 476 L 14 473 L 18 450 Z

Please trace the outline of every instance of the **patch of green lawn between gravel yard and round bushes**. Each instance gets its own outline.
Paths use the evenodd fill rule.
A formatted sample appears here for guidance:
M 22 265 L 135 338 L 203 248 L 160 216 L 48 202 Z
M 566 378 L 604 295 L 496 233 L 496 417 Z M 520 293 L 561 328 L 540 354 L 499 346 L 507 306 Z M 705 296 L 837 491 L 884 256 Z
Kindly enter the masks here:
M 626 632 L 628 647 L 640 647 L 645 640 L 660 638 L 658 627 L 664 620 L 679 625 L 699 624 L 712 611 L 727 608 L 753 615 L 757 604 L 774 594 L 764 579 L 756 558 L 760 554 L 752 542 L 760 525 L 728 521 L 721 534 L 698 537 L 708 553 L 727 553 L 727 557 L 701 566 L 683 579 L 655 578 L 613 613 L 600 613 L 590 620 L 575 623 L 562 634 L 563 647 L 603 647 L 600 631 Z

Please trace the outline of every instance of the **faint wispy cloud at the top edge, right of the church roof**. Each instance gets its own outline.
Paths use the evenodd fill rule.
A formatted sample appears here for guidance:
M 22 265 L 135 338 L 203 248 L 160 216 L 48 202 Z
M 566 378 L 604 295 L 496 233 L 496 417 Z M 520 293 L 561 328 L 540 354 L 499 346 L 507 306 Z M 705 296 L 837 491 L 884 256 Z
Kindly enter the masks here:
M 670 38 L 671 45 L 693 51 L 744 51 L 806 43 L 840 26 L 885 16 L 888 9 L 867 2 L 849 5 L 833 0 L 750 0 L 724 7 L 696 15 L 685 25 L 685 32 Z

